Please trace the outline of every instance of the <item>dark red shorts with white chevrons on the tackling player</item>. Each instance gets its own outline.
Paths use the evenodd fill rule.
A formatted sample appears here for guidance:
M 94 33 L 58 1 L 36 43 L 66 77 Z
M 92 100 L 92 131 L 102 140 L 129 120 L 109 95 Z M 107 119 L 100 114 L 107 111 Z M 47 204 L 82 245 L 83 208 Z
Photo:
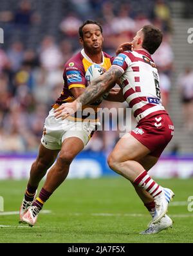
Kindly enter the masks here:
M 140 120 L 131 135 L 145 145 L 151 156 L 159 157 L 174 134 L 174 125 L 166 113 Z

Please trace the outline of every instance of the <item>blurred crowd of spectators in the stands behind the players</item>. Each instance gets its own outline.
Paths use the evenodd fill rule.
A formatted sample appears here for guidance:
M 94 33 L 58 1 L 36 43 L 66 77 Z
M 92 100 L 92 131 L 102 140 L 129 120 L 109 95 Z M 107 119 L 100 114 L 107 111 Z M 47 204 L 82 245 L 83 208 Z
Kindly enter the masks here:
M 50 11 L 42 12 L 44 6 Z M 53 25 L 50 19 L 57 24 L 51 30 L 48 29 Z M 78 27 L 86 19 L 95 19 L 102 24 L 104 51 L 113 56 L 116 47 L 131 41 L 143 25 L 152 23 L 161 28 L 163 43 L 152 58 L 158 65 L 161 96 L 167 109 L 174 58 L 167 1 L 2 0 L 0 27 L 5 30 L 5 43 L 0 45 L 1 153 L 37 151 L 44 119 L 62 91 L 64 63 L 80 50 Z M 192 104 L 193 93 L 189 99 L 187 87 L 193 90 L 193 73 L 187 69 L 185 72 L 188 73 L 186 81 L 181 78 L 179 83 L 185 91 L 183 102 L 188 107 L 187 101 Z M 104 101 L 102 106 L 127 105 Z M 116 140 L 118 132 L 100 131 L 95 133 L 86 149 L 109 151 Z

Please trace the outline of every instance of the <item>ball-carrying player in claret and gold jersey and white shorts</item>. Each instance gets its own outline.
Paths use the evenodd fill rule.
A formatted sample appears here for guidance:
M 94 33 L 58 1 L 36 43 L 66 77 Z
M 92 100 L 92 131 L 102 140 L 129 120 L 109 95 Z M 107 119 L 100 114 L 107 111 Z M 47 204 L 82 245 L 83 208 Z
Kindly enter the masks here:
M 87 87 L 85 74 L 89 66 L 96 63 L 107 70 L 113 62 L 111 56 L 102 52 L 104 38 L 99 23 L 91 20 L 84 22 L 79 28 L 79 36 L 83 49 L 64 66 L 64 88 L 45 120 L 39 155 L 32 164 L 30 179 L 19 211 L 21 222 L 30 226 L 35 225 L 44 202 L 66 179 L 73 158 L 82 151 L 92 136 L 95 125 L 98 124 L 95 119 L 98 101 L 88 106 L 93 109 L 93 116 L 83 115 L 82 111 L 68 120 L 56 119 L 54 116 L 54 110 L 62 103 L 71 102 L 84 92 Z M 113 89 L 107 100 L 124 101 L 122 91 Z M 85 119 L 89 122 L 82 122 Z M 56 163 L 51 167 L 56 158 Z M 50 167 L 39 196 L 34 200 L 39 182 Z

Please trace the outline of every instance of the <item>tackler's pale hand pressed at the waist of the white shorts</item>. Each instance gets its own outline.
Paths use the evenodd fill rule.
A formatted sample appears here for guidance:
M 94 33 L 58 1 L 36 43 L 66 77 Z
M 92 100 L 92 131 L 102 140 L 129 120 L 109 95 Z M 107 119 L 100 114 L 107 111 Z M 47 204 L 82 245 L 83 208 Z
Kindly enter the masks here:
M 64 103 L 60 105 L 60 107 L 55 109 L 55 118 L 62 118 L 62 120 L 64 120 L 68 116 L 75 114 L 75 112 L 77 112 L 77 109 L 78 105 L 76 101 L 73 101 L 71 103 Z

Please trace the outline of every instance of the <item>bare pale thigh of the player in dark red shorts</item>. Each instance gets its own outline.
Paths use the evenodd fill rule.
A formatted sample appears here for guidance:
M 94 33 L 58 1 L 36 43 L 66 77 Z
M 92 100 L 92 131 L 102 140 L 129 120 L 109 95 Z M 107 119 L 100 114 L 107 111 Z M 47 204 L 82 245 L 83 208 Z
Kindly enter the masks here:
M 113 157 L 118 162 L 127 160 L 140 160 L 151 151 L 140 143 L 131 134 L 125 134 L 115 145 L 109 157 Z

